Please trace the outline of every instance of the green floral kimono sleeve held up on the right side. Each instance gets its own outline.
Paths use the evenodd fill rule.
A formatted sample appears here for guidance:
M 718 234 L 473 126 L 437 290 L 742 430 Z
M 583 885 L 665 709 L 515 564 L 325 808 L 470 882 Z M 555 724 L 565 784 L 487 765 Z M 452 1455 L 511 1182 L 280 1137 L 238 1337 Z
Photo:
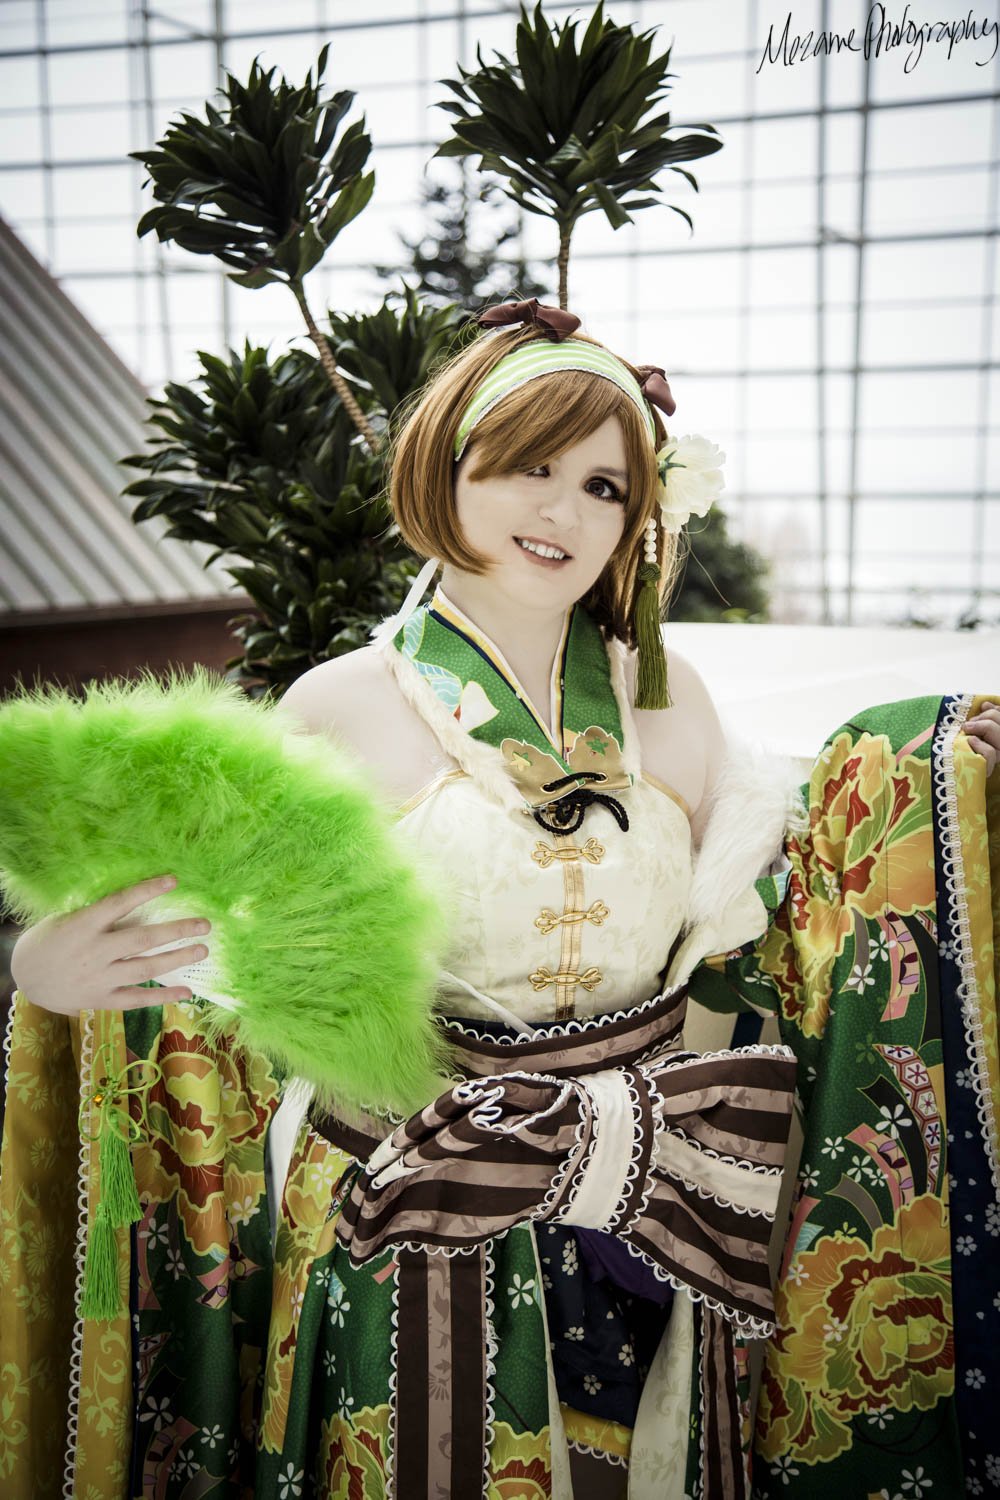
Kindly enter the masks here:
M 955 738 L 972 706 L 910 700 L 837 730 L 808 786 L 810 832 L 787 840 L 775 921 L 693 982 L 715 1006 L 724 981 L 777 1008 L 798 1058 L 804 1146 L 757 1412 L 760 1500 L 952 1500 L 990 1492 L 997 1468 L 979 1396 L 1000 1380 L 984 1336 L 1000 1305 L 996 1131 L 972 1077 L 996 1119 L 1000 798 Z

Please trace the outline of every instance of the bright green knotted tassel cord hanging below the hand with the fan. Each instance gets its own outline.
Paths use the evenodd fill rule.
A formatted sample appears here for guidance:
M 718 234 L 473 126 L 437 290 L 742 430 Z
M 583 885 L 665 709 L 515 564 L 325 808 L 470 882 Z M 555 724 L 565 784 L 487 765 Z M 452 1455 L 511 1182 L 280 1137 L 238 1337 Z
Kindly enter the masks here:
M 148 1090 L 162 1077 L 162 1071 L 157 1064 L 145 1059 L 115 1071 L 114 1047 L 105 1042 L 94 1054 L 93 1074 L 99 1082 L 90 1088 L 79 1107 L 81 1138 L 97 1146 L 97 1188 L 87 1227 L 79 1314 L 84 1318 L 108 1320 L 124 1311 L 117 1230 L 138 1224 L 142 1218 L 132 1167 L 132 1143 L 142 1138 Z M 138 1098 L 142 1124 L 132 1119 L 129 1098 Z M 97 1128 L 91 1130 L 94 1108 Z

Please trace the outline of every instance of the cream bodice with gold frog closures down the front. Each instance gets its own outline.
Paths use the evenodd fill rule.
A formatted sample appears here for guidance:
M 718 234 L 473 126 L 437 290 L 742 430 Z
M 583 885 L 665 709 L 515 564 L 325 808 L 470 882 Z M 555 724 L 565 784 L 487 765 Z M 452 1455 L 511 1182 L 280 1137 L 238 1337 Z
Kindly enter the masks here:
M 691 832 L 679 794 L 639 780 L 576 834 L 552 834 L 520 807 L 451 771 L 399 812 L 450 912 L 438 1008 L 538 1024 L 631 1006 L 657 992 L 691 886 Z

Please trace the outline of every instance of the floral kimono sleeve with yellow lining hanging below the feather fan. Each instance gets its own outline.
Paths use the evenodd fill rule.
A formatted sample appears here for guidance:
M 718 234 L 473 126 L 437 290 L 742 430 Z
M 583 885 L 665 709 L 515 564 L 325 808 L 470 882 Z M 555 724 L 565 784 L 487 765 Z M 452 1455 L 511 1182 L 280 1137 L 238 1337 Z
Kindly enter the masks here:
M 118 1065 L 150 1058 L 162 1077 L 132 1152 L 142 1218 L 117 1232 L 123 1311 L 78 1322 L 78 1110 L 93 1017 L 81 1036 L 16 999 L 0 1178 L 0 1492 L 249 1500 L 271 1287 L 264 1140 L 279 1083 L 262 1058 L 208 1044 L 196 1005 L 124 1023 L 105 1012 L 99 1032 Z M 93 1172 L 82 1191 L 93 1214 Z

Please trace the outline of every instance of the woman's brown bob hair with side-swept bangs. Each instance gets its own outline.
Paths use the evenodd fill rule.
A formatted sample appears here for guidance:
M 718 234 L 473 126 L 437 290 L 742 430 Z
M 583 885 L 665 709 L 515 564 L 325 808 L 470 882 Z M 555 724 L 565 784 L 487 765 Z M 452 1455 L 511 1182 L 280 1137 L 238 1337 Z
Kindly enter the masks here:
M 472 550 L 460 534 L 454 504 L 454 438 L 474 392 L 493 366 L 540 338 L 535 327 L 484 334 L 450 358 L 415 398 L 393 441 L 390 502 L 400 534 L 418 556 L 438 556 L 466 573 L 486 573 L 490 560 Z M 574 340 L 598 344 L 583 333 Z M 604 345 L 598 344 L 598 348 Z M 636 380 L 642 376 L 622 360 Z M 652 408 L 657 448 L 666 438 Z M 588 370 L 552 370 L 519 386 L 475 424 L 466 453 L 471 480 L 519 474 L 558 458 L 618 417 L 625 441 L 628 495 L 621 542 L 582 603 L 609 636 L 636 645 L 633 602 L 643 560 L 643 531 L 658 504 L 660 477 L 649 429 L 625 392 Z M 678 538 L 657 528 L 660 598 L 669 597 L 678 566 Z

